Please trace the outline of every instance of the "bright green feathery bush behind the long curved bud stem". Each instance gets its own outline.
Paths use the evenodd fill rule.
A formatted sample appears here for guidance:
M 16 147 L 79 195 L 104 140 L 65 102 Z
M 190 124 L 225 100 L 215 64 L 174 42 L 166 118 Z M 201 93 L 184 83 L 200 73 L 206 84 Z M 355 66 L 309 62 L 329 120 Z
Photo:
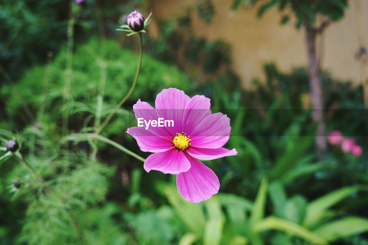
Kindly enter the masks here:
M 74 109 L 70 115 L 70 121 L 74 123 L 74 129 L 80 130 L 83 125 L 90 125 L 89 114 L 96 114 L 96 95 L 99 89 L 101 79 L 101 70 L 106 66 L 106 85 L 105 85 L 105 103 L 102 108 L 102 116 L 106 116 L 110 110 L 126 94 L 134 79 L 138 55 L 131 51 L 121 49 L 116 42 L 107 41 L 107 56 L 101 57 L 98 53 L 98 39 L 91 39 L 90 42 L 78 47 L 73 56 L 73 75 L 71 97 L 74 99 Z M 46 108 L 43 123 L 53 130 L 56 134 L 57 125 L 61 118 L 61 105 L 64 91 L 65 79 L 65 52 L 61 52 L 52 62 L 49 87 L 49 93 L 46 98 Z M 20 95 L 24 102 L 31 108 L 34 115 L 43 103 L 44 97 L 44 77 L 47 66 L 36 66 L 29 69 L 24 77 L 17 83 Z M 127 101 L 127 104 L 133 105 L 138 98 L 142 101 L 153 101 L 163 88 L 177 87 L 188 90 L 190 82 L 188 77 L 172 66 L 164 65 L 145 55 L 142 61 L 142 70 L 139 76 L 137 88 Z M 1 90 L 1 100 L 7 105 L 4 108 L 6 121 L 1 121 L 3 128 L 21 128 L 30 124 L 30 120 L 25 116 L 22 103 L 12 87 L 4 87 Z M 131 107 L 130 107 L 131 108 Z M 56 112 L 49 114 L 47 112 Z M 126 114 L 120 111 L 120 114 Z M 121 133 L 122 128 L 128 126 L 128 118 L 111 122 L 107 128 L 108 134 Z

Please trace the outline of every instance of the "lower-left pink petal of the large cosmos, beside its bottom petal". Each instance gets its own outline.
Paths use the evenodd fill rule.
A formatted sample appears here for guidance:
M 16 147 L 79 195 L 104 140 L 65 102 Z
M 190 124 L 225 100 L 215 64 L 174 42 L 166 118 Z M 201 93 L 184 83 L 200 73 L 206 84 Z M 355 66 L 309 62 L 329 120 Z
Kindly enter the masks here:
M 190 163 L 183 151 L 173 148 L 150 155 L 144 162 L 144 169 L 149 172 L 158 170 L 162 173 L 178 174 L 188 171 Z

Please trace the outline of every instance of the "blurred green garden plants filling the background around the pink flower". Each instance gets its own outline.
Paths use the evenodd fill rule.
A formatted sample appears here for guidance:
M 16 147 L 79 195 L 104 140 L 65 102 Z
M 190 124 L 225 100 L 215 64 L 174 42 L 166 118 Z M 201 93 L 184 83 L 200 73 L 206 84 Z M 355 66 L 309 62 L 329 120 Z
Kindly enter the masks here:
M 89 137 L 128 92 L 138 64 L 138 35 L 116 28 L 131 11 L 149 13 L 154 5 L 0 0 L 0 243 L 368 244 L 363 86 L 319 69 L 323 138 L 340 130 L 363 153 L 328 145 L 318 156 L 308 67 L 283 72 L 277 61 L 268 62 L 264 78 L 244 89 L 231 44 L 192 31 L 193 18 L 211 25 L 228 11 L 210 0 L 169 20 L 153 13 L 159 29 L 144 33 L 135 90 L 100 140 Z M 344 0 L 236 0 L 231 6 L 256 8 L 259 17 L 286 8 L 280 25 L 294 19 L 299 29 L 315 26 L 320 15 L 338 21 L 350 7 Z M 125 133 L 132 105 L 138 98 L 153 105 L 169 87 L 211 98 L 212 111 L 230 118 L 225 147 L 238 155 L 205 162 L 220 180 L 219 194 L 205 202 L 185 201 L 175 176 L 148 174 L 122 150 L 149 155 Z M 4 149 L 11 139 L 21 146 L 15 154 Z

